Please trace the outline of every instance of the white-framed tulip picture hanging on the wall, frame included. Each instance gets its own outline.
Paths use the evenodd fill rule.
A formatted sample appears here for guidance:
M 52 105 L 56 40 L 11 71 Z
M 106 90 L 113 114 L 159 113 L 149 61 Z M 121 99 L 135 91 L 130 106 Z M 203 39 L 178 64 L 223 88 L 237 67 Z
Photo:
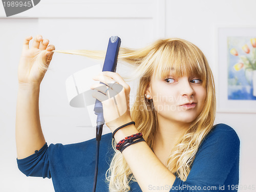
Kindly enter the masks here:
M 217 31 L 217 112 L 256 113 L 256 26 Z

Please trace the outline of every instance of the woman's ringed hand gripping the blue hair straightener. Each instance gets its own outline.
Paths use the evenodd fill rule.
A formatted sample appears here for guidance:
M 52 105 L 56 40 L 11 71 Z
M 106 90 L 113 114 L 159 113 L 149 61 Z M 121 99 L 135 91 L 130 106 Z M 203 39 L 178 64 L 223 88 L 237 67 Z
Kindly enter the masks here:
M 90 89 L 97 90 L 93 97 L 102 102 L 105 124 L 113 132 L 117 127 L 131 122 L 130 86 L 118 74 L 104 71 L 93 77 L 105 84 L 93 84 Z

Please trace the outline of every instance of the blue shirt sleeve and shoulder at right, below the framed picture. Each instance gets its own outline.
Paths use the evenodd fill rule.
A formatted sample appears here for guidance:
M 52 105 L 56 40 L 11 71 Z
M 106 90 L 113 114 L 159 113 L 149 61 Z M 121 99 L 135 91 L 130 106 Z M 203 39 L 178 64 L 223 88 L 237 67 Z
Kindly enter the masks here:
M 170 192 L 237 191 L 230 186 L 238 185 L 239 151 L 237 133 L 218 124 L 200 145 L 186 181 L 176 177 Z

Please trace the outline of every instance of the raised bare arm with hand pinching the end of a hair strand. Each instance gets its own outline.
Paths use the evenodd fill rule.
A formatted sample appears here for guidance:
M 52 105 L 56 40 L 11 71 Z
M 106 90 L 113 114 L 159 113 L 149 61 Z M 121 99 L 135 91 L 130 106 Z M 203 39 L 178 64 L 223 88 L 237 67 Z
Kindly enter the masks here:
M 29 49 L 29 41 L 24 40 L 23 51 L 18 66 L 18 95 L 16 108 L 17 158 L 32 155 L 46 143 L 42 134 L 38 100 L 42 78 L 52 59 L 54 46 L 49 40 L 37 35 Z

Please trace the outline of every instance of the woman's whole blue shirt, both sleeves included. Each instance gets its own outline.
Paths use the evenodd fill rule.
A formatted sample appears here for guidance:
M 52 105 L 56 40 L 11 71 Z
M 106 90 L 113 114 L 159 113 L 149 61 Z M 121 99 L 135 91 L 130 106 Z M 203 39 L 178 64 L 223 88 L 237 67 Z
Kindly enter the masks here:
M 112 135 L 101 137 L 96 191 L 108 191 L 105 173 L 114 155 Z M 161 191 L 237 191 L 239 184 L 240 140 L 226 124 L 217 124 L 201 143 L 186 181 L 178 177 L 173 186 L 153 186 Z M 26 176 L 52 178 L 58 191 L 92 191 L 95 169 L 96 140 L 75 144 L 47 143 L 33 155 L 17 159 L 18 168 Z M 130 183 L 131 191 L 142 191 L 137 182 Z M 238 188 L 238 187 L 237 187 Z

